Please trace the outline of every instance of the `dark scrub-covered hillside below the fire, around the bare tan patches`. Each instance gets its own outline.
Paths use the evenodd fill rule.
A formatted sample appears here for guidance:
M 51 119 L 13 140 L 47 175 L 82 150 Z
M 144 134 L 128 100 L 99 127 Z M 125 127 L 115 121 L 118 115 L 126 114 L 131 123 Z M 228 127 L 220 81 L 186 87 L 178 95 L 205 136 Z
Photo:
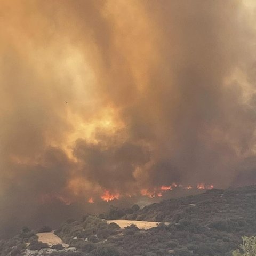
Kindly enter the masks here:
M 111 207 L 100 215 L 105 219 L 121 217 L 169 225 L 121 229 L 111 221 L 85 216 L 82 220 L 68 220 L 55 230 L 69 249 L 57 246 L 46 250 L 49 245 L 38 242 L 33 231 L 23 229 L 13 239 L 0 242 L 0 255 L 229 256 L 241 243 L 241 236 L 256 234 L 255 212 L 256 186 L 212 189 L 143 209 L 136 205 L 131 209 Z M 25 242 L 31 244 L 25 247 Z M 28 254 L 31 251 L 33 254 Z

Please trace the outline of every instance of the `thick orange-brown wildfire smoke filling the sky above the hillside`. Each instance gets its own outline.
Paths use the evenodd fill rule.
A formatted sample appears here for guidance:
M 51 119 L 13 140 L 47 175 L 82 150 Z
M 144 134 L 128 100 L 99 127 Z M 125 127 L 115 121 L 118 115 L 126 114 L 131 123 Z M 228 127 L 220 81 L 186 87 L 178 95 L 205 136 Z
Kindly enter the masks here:
M 0 233 L 97 212 L 106 190 L 256 180 L 254 10 L 2 1 Z

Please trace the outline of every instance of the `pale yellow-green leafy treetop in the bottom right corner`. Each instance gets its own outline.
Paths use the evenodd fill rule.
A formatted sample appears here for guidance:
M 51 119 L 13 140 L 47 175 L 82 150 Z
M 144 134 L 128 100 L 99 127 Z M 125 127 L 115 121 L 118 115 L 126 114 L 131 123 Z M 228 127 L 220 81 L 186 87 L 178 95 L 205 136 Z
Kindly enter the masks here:
M 256 255 L 256 236 L 242 236 L 243 243 L 239 249 L 232 252 L 233 256 L 255 256 Z

